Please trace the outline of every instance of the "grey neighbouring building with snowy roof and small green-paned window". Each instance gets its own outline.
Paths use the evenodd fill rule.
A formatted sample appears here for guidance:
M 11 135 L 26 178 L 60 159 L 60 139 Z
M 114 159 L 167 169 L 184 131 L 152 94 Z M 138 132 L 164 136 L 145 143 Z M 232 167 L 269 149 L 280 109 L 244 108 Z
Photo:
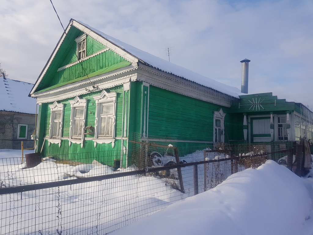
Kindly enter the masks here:
M 0 77 L 0 149 L 32 148 L 36 100 L 28 97 L 33 84 Z

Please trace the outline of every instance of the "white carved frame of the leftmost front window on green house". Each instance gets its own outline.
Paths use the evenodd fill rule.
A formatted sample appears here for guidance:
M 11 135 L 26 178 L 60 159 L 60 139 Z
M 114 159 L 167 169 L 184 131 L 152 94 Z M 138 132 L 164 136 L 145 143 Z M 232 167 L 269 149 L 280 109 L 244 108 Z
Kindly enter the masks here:
M 50 108 L 50 123 L 49 123 L 49 139 L 48 143 L 50 144 L 59 144 L 59 147 L 61 146 L 61 137 L 62 137 L 62 128 L 63 128 L 63 115 L 64 115 L 64 104 L 58 103 L 54 101 L 53 104 L 49 105 Z M 58 138 L 52 138 L 53 134 L 53 128 L 54 128 L 54 114 L 55 112 L 60 111 L 61 112 L 61 122 L 60 122 L 60 129 L 59 129 L 59 137 Z

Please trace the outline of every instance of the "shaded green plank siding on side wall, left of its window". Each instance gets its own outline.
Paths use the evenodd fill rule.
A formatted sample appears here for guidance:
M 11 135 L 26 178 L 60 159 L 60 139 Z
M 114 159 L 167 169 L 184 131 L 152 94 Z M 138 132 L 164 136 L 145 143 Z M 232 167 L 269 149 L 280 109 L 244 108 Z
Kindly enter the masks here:
M 149 135 L 213 141 L 213 111 L 220 106 L 154 86 L 149 95 Z

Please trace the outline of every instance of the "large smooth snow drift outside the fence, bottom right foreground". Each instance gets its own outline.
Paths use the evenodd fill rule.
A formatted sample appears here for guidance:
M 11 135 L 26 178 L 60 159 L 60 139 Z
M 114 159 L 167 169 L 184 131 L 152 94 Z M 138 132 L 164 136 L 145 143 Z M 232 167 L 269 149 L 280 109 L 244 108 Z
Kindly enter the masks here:
M 112 234 L 312 234 L 312 198 L 310 184 L 268 160 Z

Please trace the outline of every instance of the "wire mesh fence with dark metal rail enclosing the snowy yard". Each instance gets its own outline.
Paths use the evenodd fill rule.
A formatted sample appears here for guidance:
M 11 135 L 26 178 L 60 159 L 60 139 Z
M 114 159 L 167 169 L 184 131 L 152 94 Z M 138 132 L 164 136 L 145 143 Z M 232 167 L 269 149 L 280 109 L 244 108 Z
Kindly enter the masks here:
M 266 152 L 255 145 L 133 144 L 131 166 L 123 169 L 91 153 L 40 158 L 31 168 L 20 158 L 0 159 L 1 234 L 107 234 L 256 168 L 269 154 L 286 162 L 293 156 L 292 149 Z

